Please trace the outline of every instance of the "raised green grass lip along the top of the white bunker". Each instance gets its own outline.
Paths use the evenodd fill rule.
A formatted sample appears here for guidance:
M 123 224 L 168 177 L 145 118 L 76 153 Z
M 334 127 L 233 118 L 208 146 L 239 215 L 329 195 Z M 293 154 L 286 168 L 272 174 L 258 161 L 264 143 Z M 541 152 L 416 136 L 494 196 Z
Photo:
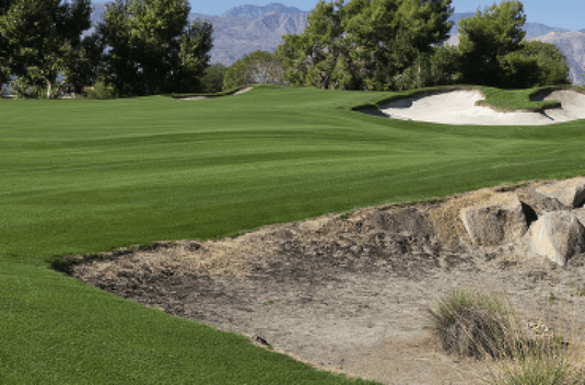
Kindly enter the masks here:
M 542 91 L 552 91 L 558 89 L 574 89 L 577 90 L 577 92 L 585 93 L 585 88 L 577 85 L 541 86 L 526 90 L 500 90 L 485 85 L 436 86 L 423 90 L 396 92 L 389 97 L 378 97 L 367 103 L 358 104 L 356 106 L 354 106 L 354 109 L 359 110 L 378 108 L 385 103 L 389 103 L 400 98 L 429 95 L 437 92 L 445 92 L 452 90 L 479 90 L 483 93 L 485 100 L 478 101 L 478 105 L 490 106 L 500 112 L 511 112 L 517 109 L 540 112 L 547 108 L 558 107 L 560 104 L 557 101 L 531 102 L 530 97 Z

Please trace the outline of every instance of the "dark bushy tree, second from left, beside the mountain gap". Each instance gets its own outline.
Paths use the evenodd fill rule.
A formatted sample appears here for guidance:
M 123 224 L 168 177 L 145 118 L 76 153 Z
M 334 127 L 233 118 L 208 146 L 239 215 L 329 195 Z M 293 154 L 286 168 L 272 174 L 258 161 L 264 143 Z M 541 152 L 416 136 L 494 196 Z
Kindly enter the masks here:
M 116 0 L 97 26 L 109 47 L 108 82 L 122 95 L 198 91 L 209 67 L 212 25 L 188 25 L 187 0 Z

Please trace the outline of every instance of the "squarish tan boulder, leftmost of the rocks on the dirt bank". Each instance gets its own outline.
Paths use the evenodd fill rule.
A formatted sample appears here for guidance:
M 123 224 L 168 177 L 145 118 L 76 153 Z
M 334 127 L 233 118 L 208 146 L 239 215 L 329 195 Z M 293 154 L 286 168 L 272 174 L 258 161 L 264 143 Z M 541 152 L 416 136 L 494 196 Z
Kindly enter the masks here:
M 461 209 L 459 215 L 475 246 L 498 246 L 528 231 L 523 205 L 514 195 Z

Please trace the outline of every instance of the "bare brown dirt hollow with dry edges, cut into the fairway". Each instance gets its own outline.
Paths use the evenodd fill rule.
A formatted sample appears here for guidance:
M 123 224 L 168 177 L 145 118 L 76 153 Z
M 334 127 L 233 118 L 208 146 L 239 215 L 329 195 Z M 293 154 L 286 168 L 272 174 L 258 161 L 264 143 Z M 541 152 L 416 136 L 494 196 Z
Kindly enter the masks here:
M 504 190 L 534 208 L 533 220 L 569 209 L 535 194 L 536 186 L 365 208 L 214 242 L 161 242 L 81 257 L 69 272 L 250 343 L 264 340 L 319 370 L 383 384 L 476 384 L 487 365 L 444 353 L 425 328 L 437 296 L 459 288 L 505 292 L 523 320 L 566 338 L 585 326 L 577 291 L 585 254 L 561 268 L 520 243 L 473 249 L 466 241 L 458 211 Z

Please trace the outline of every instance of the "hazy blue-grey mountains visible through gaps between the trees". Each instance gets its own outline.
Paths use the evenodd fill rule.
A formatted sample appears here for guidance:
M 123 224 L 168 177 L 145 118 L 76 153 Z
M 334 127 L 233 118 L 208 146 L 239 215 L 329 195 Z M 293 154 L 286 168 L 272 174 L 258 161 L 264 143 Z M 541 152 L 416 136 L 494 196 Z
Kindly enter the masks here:
M 93 3 L 92 22 L 94 24 L 102 20 L 105 5 L 106 2 Z M 308 14 L 309 12 L 295 7 L 270 3 L 265 7 L 234 7 L 221 16 L 191 13 L 189 22 L 197 19 L 207 20 L 213 24 L 211 62 L 231 66 L 244 55 L 255 50 L 273 51 L 282 42 L 282 35 L 303 33 Z M 459 20 L 473 15 L 475 12 L 454 13 L 449 18 L 451 21 L 455 22 L 451 31 L 449 44 L 457 45 L 459 42 L 457 35 Z M 569 59 L 573 82 L 583 83 L 581 74 L 585 65 L 585 28 L 580 32 L 571 32 L 540 23 L 526 23 L 524 27 L 527 39 L 539 39 L 557 45 Z

